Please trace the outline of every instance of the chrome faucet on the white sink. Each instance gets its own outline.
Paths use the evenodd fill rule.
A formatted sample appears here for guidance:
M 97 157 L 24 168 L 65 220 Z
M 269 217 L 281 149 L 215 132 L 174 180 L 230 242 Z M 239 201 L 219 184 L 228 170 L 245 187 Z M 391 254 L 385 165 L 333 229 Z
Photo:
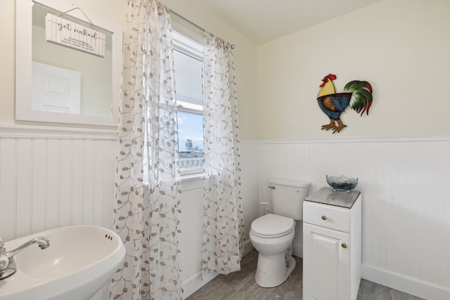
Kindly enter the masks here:
M 5 243 L 0 237 L 0 280 L 15 273 L 14 256 L 32 244 L 37 244 L 41 249 L 46 249 L 50 246 L 50 241 L 46 237 L 34 237 L 34 239 L 29 240 L 25 244 L 20 245 L 10 252 L 6 252 L 4 248 Z

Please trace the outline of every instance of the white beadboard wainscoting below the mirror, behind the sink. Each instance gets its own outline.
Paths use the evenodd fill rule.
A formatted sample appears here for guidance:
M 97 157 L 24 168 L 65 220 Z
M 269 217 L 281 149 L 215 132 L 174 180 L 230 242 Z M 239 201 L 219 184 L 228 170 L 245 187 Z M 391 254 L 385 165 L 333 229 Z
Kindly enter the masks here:
M 113 228 L 116 131 L 0 125 L 0 236 Z M 92 300 L 108 299 L 105 285 Z

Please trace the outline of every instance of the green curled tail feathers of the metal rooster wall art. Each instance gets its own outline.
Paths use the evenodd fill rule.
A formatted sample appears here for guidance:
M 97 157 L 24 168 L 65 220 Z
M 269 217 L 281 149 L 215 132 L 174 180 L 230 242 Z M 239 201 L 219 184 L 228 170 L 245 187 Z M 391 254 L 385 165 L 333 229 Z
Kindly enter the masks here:
M 368 110 L 372 105 L 372 86 L 367 81 L 354 80 L 350 81 L 345 85 L 345 92 L 352 93 L 352 98 L 350 99 L 350 107 L 355 110 L 361 116 L 366 112 L 368 115 Z

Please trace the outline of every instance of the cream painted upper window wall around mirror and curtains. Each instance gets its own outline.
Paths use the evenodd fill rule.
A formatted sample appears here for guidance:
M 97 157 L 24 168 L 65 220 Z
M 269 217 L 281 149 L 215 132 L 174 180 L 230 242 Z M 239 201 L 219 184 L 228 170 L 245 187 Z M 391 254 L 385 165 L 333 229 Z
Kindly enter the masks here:
M 88 16 L 94 16 L 112 25 L 125 27 L 126 0 L 55 0 L 64 1 L 83 9 Z M 256 106 L 256 45 L 229 25 L 221 22 L 214 12 L 205 11 L 201 0 L 163 0 L 166 6 L 183 15 L 205 30 L 236 45 L 233 51 L 236 81 L 238 82 L 239 108 L 245 118 L 240 120 L 240 134 L 245 138 L 257 138 Z M 105 10 L 105 8 L 108 8 Z M 105 13 L 108 11 L 108 13 Z M 0 25 L 8 30 L 0 31 L 0 124 L 36 124 L 15 121 L 15 1 L 0 1 Z M 41 125 L 41 124 L 38 124 Z M 61 124 L 59 126 L 62 126 Z

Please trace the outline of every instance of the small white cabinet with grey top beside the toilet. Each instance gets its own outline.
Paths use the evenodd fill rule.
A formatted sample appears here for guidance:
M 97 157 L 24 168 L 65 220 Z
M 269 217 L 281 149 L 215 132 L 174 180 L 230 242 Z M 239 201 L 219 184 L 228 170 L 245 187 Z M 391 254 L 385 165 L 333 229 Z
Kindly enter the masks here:
M 361 280 L 361 193 L 321 188 L 303 202 L 303 299 L 355 300 Z

